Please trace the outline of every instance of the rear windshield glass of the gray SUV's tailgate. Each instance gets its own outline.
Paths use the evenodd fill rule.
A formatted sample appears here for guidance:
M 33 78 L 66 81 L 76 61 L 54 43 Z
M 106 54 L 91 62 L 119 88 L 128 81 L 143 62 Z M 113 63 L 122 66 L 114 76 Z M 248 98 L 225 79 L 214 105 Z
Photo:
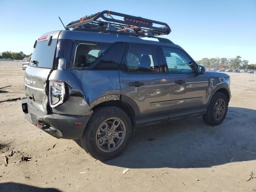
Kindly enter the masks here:
M 53 39 L 50 46 L 48 46 L 48 41 L 37 42 L 30 60 L 30 66 L 52 68 L 56 44 L 57 39 Z

